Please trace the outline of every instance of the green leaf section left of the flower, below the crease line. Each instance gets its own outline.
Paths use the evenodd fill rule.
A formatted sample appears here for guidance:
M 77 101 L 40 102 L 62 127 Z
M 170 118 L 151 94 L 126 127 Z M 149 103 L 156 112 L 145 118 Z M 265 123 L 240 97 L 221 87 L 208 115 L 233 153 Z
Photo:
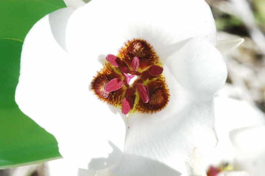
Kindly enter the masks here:
M 0 168 L 59 157 L 55 138 L 15 103 L 22 42 L 0 40 Z

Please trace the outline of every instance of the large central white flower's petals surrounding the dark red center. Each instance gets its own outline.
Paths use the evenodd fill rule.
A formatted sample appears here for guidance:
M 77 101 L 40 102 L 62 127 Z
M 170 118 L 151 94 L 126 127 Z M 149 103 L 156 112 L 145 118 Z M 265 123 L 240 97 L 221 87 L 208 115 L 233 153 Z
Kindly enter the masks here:
M 154 113 L 125 116 L 89 87 L 106 55 L 134 39 L 159 57 L 169 101 Z M 217 46 L 226 51 L 238 42 Z M 110 168 L 115 176 L 197 174 L 194 154 L 216 145 L 213 98 L 227 76 L 215 45 L 204 0 L 92 0 L 63 8 L 25 38 L 16 102 L 79 168 Z

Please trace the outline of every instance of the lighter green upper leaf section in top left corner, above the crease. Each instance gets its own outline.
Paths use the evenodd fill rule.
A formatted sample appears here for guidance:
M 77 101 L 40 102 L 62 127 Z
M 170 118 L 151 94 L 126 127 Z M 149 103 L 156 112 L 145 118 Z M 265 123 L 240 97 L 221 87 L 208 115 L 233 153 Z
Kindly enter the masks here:
M 35 22 L 63 7 L 63 0 L 0 0 L 0 39 L 23 41 Z

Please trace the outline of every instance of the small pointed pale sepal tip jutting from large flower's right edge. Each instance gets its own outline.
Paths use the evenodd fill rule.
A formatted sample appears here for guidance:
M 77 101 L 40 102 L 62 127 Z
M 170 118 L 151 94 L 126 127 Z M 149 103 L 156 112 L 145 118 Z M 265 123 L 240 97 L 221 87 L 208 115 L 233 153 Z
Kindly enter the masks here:
M 244 39 L 231 39 L 231 40 L 219 40 L 217 41 L 216 47 L 222 53 L 226 54 L 230 50 L 235 49 L 244 42 Z

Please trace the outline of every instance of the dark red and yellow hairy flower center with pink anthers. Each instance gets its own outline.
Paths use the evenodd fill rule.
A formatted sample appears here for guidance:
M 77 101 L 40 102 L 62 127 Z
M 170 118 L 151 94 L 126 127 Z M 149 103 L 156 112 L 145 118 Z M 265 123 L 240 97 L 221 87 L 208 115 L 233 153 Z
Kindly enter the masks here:
M 166 107 L 168 86 L 150 44 L 140 39 L 128 41 L 117 56 L 108 54 L 106 60 L 91 84 L 101 100 L 121 107 L 123 114 L 153 113 Z

